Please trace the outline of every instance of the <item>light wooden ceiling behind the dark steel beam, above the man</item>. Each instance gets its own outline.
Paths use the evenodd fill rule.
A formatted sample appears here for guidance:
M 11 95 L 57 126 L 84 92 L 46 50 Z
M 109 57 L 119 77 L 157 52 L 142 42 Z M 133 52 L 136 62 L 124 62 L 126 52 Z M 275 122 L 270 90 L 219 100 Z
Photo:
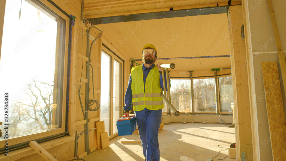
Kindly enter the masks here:
M 230 57 L 200 58 L 230 55 L 227 14 L 200 15 L 94 25 L 104 37 L 128 58 L 141 59 L 142 47 L 155 45 L 158 60 L 175 63 L 174 70 L 206 70 L 230 67 Z M 180 59 L 181 57 L 198 57 Z M 138 61 L 142 63 L 142 61 Z

